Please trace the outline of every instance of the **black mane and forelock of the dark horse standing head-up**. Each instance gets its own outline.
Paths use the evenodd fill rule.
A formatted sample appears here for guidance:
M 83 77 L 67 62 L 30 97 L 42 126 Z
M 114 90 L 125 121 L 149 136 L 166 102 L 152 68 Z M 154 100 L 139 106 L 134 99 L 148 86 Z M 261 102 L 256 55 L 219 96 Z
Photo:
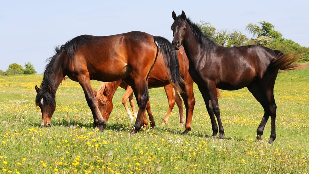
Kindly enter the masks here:
M 182 18 L 182 16 L 179 15 L 176 18 L 175 22 L 180 23 L 181 20 L 184 20 L 184 18 Z M 193 36 L 196 38 L 197 42 L 201 45 L 202 51 L 207 56 L 210 55 L 210 53 L 214 50 L 214 48 L 220 46 L 214 40 L 212 40 L 208 36 L 205 36 L 201 31 L 201 28 L 197 24 L 193 23 L 189 18 L 186 18 L 186 20 L 193 32 Z

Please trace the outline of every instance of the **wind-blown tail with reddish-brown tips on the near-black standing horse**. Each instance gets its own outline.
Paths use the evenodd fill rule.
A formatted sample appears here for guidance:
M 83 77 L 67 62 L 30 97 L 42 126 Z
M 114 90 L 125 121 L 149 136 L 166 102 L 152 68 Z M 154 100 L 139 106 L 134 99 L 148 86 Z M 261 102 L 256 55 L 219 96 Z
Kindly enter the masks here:
M 278 70 L 296 70 L 301 68 L 301 64 L 295 64 L 300 60 L 302 54 L 294 56 L 294 54 L 283 54 L 281 51 L 274 50 L 276 57 L 269 64 L 269 68 Z

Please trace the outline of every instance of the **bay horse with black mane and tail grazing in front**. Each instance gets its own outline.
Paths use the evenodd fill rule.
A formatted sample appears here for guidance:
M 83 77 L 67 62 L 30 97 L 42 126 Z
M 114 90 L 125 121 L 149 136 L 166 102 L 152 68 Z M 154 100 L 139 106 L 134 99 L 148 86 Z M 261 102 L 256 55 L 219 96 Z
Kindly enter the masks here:
M 164 58 L 163 69 L 168 72 L 168 81 L 180 90 L 183 79 L 180 77 L 177 54 L 171 43 L 163 37 L 144 32 L 112 36 L 82 35 L 57 47 L 56 54 L 49 58 L 40 88 L 35 87 L 36 105 L 41 109 L 44 125 L 50 124 L 56 108 L 57 88 L 67 75 L 82 86 L 94 125 L 101 131 L 106 120 L 99 111 L 90 80 L 109 82 L 124 79 L 132 86 L 138 102 L 133 133 L 139 131 L 149 100 L 148 75 L 158 54 Z

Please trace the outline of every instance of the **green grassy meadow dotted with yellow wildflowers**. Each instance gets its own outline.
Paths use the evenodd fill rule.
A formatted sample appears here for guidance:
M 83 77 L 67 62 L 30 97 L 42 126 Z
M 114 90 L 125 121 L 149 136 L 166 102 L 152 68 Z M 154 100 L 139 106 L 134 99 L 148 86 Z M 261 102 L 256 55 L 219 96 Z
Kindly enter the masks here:
M 82 88 L 70 79 L 57 90 L 52 125 L 42 127 L 34 88 L 42 78 L 0 76 L 1 173 L 309 173 L 308 68 L 278 74 L 273 144 L 267 143 L 271 119 L 263 141 L 256 141 L 264 111 L 247 89 L 221 90 L 225 139 L 212 138 L 196 84 L 192 131 L 187 135 L 182 134 L 176 105 L 169 123 L 161 125 L 168 108 L 163 88 L 149 90 L 155 129 L 131 134 L 134 122 L 121 104 L 124 90 L 119 88 L 107 127 L 99 132 Z M 91 83 L 95 89 L 100 85 Z

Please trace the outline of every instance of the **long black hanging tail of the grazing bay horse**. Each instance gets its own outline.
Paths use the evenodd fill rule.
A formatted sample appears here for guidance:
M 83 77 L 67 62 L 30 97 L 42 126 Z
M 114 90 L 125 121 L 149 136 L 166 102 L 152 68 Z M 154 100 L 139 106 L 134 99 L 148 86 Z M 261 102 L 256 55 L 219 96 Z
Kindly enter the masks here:
M 181 92 L 181 86 L 184 85 L 184 79 L 180 74 L 179 62 L 175 48 L 163 37 L 154 36 L 154 40 L 163 56 L 169 81 L 178 91 Z

